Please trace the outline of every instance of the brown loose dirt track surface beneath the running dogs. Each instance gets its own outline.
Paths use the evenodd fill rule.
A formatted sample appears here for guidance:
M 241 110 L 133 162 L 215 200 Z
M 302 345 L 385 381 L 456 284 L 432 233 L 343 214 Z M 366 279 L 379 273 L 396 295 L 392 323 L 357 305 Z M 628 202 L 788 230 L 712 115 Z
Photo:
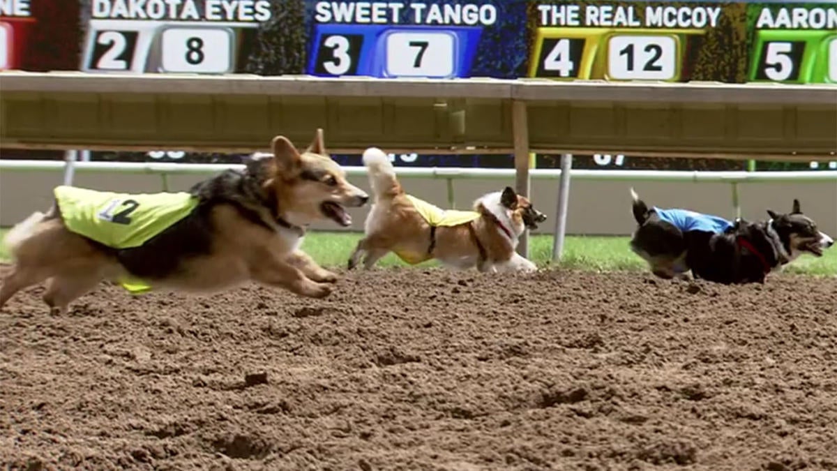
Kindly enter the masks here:
M 0 313 L 0 461 L 837 469 L 837 279 L 345 275 L 325 301 L 103 285 L 60 317 L 43 288 L 18 293 Z

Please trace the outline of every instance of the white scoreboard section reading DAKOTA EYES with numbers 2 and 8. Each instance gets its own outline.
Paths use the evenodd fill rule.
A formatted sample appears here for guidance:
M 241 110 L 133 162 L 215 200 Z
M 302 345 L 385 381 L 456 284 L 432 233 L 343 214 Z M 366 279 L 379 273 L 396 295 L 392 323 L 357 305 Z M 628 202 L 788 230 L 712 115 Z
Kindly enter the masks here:
M 271 18 L 268 0 L 92 0 L 80 70 L 226 74 Z

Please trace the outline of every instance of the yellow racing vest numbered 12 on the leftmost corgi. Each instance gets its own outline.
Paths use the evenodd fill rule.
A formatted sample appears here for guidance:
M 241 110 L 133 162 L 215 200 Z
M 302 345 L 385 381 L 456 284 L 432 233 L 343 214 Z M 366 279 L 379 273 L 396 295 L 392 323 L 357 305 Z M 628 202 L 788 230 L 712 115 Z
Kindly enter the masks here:
M 198 205 L 186 192 L 128 194 L 61 185 L 54 194 L 68 230 L 114 249 L 141 246 Z M 119 282 L 134 294 L 151 290 L 134 278 Z

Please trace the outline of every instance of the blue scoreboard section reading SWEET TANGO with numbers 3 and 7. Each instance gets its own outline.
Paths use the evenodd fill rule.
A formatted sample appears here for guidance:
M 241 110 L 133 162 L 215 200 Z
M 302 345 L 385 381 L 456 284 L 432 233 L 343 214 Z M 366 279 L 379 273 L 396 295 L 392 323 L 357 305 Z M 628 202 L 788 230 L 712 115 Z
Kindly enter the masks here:
M 500 50 L 496 40 L 484 40 L 485 32 L 508 22 L 506 10 L 514 7 L 515 2 L 316 2 L 306 74 L 470 77 L 477 54 Z M 522 18 L 523 4 L 517 8 Z M 511 70 L 490 75 L 498 72 L 513 75 Z

